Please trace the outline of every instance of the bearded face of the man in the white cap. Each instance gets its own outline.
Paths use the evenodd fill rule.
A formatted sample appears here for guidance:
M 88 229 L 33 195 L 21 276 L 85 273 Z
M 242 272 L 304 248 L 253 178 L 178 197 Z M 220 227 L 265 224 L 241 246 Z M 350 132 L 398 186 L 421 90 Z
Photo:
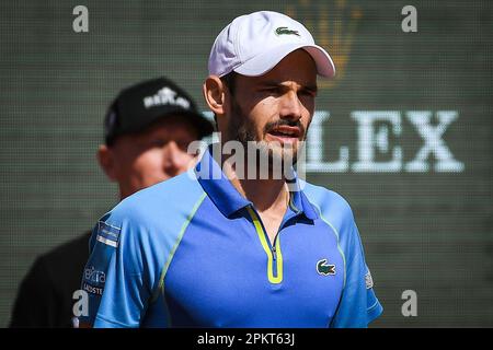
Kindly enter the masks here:
M 289 152 L 296 161 L 314 112 L 317 68 L 302 49 L 286 56 L 261 77 L 237 74 L 236 91 L 223 132 L 225 141 L 267 145 L 272 155 Z

